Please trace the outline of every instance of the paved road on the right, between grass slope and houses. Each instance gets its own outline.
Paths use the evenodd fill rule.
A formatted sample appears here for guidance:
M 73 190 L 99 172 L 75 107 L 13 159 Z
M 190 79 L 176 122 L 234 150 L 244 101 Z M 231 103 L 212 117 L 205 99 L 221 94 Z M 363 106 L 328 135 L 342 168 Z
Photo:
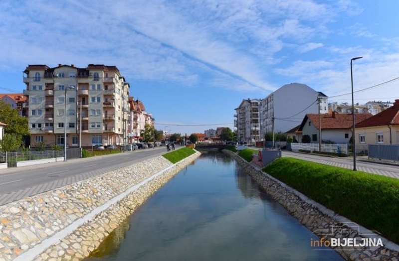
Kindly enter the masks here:
M 315 154 L 306 154 L 306 153 L 296 153 L 292 151 L 282 151 L 283 157 L 293 157 L 304 160 L 309 160 L 321 164 L 353 169 L 353 158 L 336 158 L 336 157 L 326 157 L 319 156 Z M 356 169 L 358 171 L 364 171 L 368 173 L 399 178 L 399 165 L 389 165 L 389 164 L 381 164 L 377 162 L 372 162 L 367 160 L 367 156 L 358 156 L 356 157 Z

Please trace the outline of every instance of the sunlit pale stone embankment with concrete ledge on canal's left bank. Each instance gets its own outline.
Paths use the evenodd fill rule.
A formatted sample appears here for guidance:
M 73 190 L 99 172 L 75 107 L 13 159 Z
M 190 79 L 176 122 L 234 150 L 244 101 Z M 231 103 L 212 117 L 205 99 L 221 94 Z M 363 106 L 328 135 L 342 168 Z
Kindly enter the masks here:
M 87 257 L 196 154 L 163 156 L 0 207 L 0 261 Z

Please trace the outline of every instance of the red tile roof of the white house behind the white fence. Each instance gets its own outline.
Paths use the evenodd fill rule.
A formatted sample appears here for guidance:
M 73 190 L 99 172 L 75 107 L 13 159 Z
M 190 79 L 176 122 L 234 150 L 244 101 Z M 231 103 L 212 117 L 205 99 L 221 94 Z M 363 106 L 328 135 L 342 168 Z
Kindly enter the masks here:
M 372 117 L 370 113 L 357 113 L 355 114 L 355 124 L 358 124 L 366 119 Z M 322 114 L 320 116 L 321 129 L 350 129 L 352 128 L 352 114 Z M 301 124 L 300 130 L 303 125 L 309 119 L 316 129 L 319 129 L 319 115 L 318 114 L 306 114 L 305 119 Z

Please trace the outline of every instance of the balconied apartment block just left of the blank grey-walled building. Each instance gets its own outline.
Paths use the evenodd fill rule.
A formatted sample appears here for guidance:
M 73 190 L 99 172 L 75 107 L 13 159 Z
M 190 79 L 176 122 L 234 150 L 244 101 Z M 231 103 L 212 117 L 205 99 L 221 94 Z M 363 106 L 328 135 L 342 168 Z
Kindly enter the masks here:
M 242 100 L 235 108 L 234 127 L 237 128 L 237 139 L 240 142 L 251 143 L 260 140 L 259 104 L 261 99 Z

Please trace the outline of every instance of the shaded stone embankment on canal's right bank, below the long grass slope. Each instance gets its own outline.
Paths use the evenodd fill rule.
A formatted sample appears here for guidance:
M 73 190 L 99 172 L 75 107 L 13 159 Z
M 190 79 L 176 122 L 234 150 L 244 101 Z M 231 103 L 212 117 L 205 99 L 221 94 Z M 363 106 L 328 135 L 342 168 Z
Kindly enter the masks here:
M 315 250 L 320 245 L 328 247 L 326 244 L 329 244 L 331 239 L 340 239 L 342 240 L 341 243 L 344 243 L 344 238 L 356 239 L 358 243 L 362 243 L 363 239 L 372 241 L 381 239 L 383 247 L 370 247 L 373 244 L 369 244 L 369 246 L 364 247 L 341 246 L 333 249 L 345 260 L 399 261 L 398 245 L 312 201 L 302 193 L 263 172 L 257 166 L 248 163 L 236 153 L 229 150 L 223 150 L 223 152 L 231 155 L 266 193 L 320 238 L 319 241 L 309 239 L 309 245 L 314 247 Z

